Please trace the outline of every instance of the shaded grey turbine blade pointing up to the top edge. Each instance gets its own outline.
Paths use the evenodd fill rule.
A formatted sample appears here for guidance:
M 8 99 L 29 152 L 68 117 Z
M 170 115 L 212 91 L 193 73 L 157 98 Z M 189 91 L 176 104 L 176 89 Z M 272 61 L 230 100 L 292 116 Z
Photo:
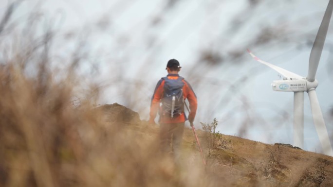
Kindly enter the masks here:
M 331 16 L 333 10 L 333 0 L 330 0 L 327 5 L 323 20 L 321 21 L 318 33 L 314 40 L 314 45 L 312 47 L 309 59 L 309 71 L 306 79 L 313 82 L 315 79 L 315 73 L 317 72 L 321 52 L 323 51 L 325 38 L 327 35 L 327 30 L 330 24 Z

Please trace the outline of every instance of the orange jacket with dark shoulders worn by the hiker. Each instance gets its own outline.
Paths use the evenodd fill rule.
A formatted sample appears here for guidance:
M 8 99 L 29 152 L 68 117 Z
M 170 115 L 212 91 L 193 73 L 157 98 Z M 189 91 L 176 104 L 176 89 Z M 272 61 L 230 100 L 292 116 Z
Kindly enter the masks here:
M 167 78 L 168 79 L 178 79 L 179 75 L 178 74 L 168 74 Z M 188 119 L 194 119 L 195 114 L 197 112 L 197 96 L 195 95 L 191 85 L 183 79 L 184 86 L 183 86 L 183 94 L 184 94 L 184 99 L 187 99 L 189 102 L 189 109 L 190 113 L 188 115 Z M 157 112 L 160 109 L 160 103 L 161 99 L 163 97 L 163 91 L 164 91 L 164 83 L 165 80 L 161 79 L 155 88 L 154 94 L 151 98 L 151 104 L 150 104 L 150 113 L 149 117 L 150 120 L 153 120 L 156 118 Z M 185 107 L 186 108 L 186 107 Z M 186 110 L 186 109 L 185 109 Z M 159 122 L 160 123 L 179 123 L 179 122 L 185 122 L 187 120 L 185 113 L 183 112 L 180 116 L 176 118 L 171 118 L 168 116 L 160 115 Z

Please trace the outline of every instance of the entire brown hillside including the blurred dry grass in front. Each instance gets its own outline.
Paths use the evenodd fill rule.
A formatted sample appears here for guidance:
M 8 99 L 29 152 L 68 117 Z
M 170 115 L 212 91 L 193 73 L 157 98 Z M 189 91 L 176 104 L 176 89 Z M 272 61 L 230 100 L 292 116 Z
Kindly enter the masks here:
M 136 112 L 117 103 L 74 108 L 63 90 L 35 97 L 21 87 L 31 99 L 0 100 L 0 187 L 333 186 L 330 156 L 197 130 L 204 166 L 189 128 L 176 167 L 158 152 L 158 125 Z M 17 88 L 12 94 L 23 93 Z

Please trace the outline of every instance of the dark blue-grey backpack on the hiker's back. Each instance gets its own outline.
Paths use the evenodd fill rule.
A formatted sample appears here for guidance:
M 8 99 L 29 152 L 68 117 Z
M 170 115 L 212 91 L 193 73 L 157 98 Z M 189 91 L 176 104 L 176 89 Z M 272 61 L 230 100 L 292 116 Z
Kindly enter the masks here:
M 162 114 L 171 118 L 177 117 L 184 111 L 183 77 L 178 79 L 162 78 L 163 87 Z

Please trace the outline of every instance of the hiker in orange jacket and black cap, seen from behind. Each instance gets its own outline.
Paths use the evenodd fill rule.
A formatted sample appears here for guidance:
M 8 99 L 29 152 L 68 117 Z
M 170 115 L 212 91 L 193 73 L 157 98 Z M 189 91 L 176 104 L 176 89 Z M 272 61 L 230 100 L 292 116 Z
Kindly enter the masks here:
M 178 74 L 181 68 L 176 59 L 167 62 L 168 74 L 156 85 L 149 113 L 150 124 L 156 124 L 159 113 L 161 151 L 173 153 L 176 161 L 180 158 L 185 121 L 188 119 L 192 126 L 197 111 L 197 97 L 192 87 Z M 188 117 L 185 116 L 185 99 L 189 102 Z

